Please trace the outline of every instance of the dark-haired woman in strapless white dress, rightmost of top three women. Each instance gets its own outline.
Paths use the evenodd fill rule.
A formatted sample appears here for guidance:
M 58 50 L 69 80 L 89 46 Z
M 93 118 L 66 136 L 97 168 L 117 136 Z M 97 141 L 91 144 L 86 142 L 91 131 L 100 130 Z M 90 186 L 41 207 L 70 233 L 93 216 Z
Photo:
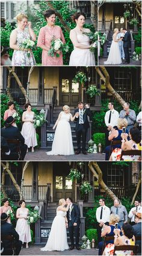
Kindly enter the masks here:
M 94 66 L 94 53 L 90 51 L 90 39 L 87 35 L 90 29 L 84 28 L 85 15 L 84 13 L 75 13 L 73 21 L 76 22 L 76 27 L 70 30 L 70 40 L 72 41 L 74 50 L 70 54 L 69 66 Z

